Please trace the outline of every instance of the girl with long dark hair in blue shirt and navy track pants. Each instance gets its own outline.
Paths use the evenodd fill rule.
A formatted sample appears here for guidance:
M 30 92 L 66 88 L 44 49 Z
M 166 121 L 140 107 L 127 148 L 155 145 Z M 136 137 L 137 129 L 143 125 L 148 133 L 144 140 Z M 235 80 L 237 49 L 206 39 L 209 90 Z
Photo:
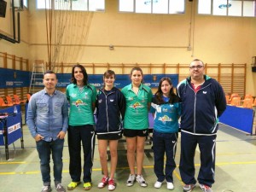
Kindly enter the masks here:
M 174 158 L 181 103 L 173 92 L 171 79 L 160 79 L 158 90 L 151 102 L 150 112 L 154 113 L 154 173 L 157 177 L 154 187 L 160 188 L 163 181 L 166 180 L 167 189 L 174 189 L 172 172 L 176 167 Z M 166 169 L 164 172 L 165 154 Z

